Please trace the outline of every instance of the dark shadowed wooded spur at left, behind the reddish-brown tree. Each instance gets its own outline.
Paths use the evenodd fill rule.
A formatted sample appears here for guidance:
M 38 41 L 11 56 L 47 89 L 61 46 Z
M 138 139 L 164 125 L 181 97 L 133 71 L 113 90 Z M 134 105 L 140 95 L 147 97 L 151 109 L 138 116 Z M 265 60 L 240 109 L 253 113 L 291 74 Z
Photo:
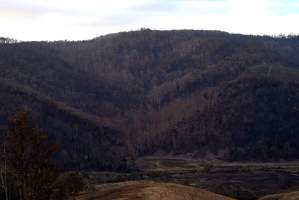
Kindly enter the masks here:
M 50 139 L 61 145 L 59 165 L 65 169 L 126 168 L 126 146 L 118 130 L 29 87 L 0 79 L 0 124 L 18 109 L 29 109 Z M 92 148 L 90 148 L 92 147 Z M 105 162 L 103 162 L 105 160 Z

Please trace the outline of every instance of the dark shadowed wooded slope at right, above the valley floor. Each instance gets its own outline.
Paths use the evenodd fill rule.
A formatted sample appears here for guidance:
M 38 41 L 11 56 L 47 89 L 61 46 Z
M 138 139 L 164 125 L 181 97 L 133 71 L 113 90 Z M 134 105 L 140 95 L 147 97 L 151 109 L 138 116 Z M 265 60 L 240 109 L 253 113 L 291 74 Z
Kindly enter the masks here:
M 220 87 L 210 101 L 164 133 L 161 147 L 232 160 L 298 158 L 298 83 L 242 78 Z

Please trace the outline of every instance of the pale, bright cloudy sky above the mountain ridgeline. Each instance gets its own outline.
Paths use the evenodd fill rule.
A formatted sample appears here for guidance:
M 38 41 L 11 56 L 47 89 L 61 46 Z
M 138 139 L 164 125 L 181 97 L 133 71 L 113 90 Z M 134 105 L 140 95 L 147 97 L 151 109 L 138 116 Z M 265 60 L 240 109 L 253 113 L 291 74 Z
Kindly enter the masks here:
M 86 40 L 108 33 L 221 30 L 299 34 L 299 0 L 0 0 L 0 37 Z

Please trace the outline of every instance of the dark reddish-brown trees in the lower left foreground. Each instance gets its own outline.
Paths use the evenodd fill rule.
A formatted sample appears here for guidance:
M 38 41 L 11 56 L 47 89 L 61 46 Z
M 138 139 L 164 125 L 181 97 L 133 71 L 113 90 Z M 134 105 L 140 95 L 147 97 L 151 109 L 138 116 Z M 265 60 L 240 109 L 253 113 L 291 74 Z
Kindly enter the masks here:
M 74 198 L 84 186 L 75 172 L 55 162 L 59 145 L 48 138 L 28 111 L 18 111 L 1 130 L 0 198 L 59 200 Z

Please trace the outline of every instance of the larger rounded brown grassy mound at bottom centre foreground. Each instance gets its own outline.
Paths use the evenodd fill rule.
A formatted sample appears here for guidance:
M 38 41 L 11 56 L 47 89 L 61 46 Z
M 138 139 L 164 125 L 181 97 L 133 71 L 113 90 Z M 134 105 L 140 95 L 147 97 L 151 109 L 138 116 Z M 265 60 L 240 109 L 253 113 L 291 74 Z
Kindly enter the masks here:
M 77 200 L 232 200 L 206 190 L 170 183 L 123 182 L 98 186 Z

